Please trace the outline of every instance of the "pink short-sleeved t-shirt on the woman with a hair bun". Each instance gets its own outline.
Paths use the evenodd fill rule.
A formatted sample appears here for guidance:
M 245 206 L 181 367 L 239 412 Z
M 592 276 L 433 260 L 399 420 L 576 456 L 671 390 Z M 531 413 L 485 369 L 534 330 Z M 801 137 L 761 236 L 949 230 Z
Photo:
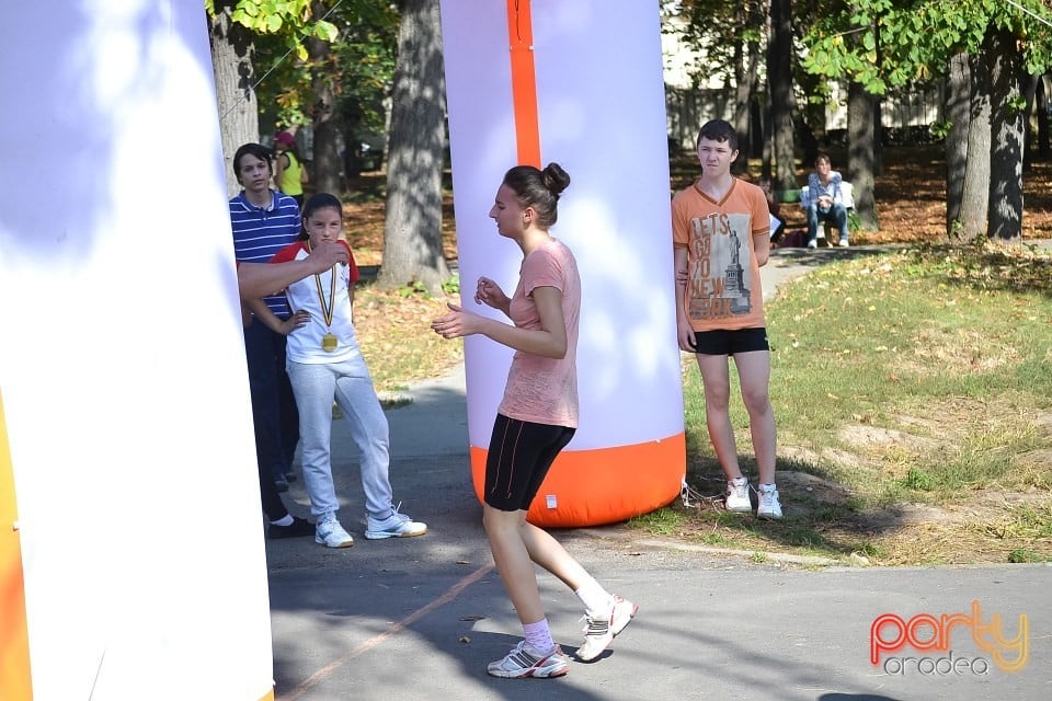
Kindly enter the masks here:
M 508 309 L 508 315 L 519 329 L 541 327 L 533 297 L 538 287 L 554 287 L 562 292 L 567 355 L 557 360 L 516 352 L 498 411 L 519 421 L 576 428 L 581 277 L 573 253 L 561 241 L 553 239 L 523 260 L 518 286 Z

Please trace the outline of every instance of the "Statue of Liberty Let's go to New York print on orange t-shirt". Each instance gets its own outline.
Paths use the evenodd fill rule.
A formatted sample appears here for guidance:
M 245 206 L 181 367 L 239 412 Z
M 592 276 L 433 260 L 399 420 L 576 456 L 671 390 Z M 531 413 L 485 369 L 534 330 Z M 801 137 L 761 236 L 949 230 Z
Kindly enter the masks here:
M 690 319 L 730 319 L 752 311 L 752 217 L 713 212 L 690 220 L 687 313 Z

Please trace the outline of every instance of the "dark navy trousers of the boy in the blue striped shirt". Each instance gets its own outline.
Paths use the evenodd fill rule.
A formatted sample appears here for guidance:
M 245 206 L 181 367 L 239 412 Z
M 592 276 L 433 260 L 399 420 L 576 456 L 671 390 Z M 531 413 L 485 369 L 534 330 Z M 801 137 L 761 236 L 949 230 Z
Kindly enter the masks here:
M 260 321 L 244 329 L 252 421 L 260 471 L 273 481 L 291 471 L 299 441 L 299 413 L 285 372 L 285 336 Z

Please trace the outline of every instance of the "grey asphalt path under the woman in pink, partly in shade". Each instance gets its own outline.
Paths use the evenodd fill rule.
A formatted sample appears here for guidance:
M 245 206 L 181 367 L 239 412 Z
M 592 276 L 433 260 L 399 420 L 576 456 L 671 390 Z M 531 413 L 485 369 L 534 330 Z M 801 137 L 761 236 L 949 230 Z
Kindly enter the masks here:
M 765 292 L 825 260 L 873 251 L 776 251 Z M 610 650 L 560 679 L 488 677 L 521 628 L 471 489 L 462 368 L 410 394 L 388 411 L 391 483 L 428 533 L 365 540 L 357 450 L 336 421 L 333 472 L 355 547 L 266 544 L 278 700 L 1052 698 L 1052 566 L 813 566 L 624 526 L 556 533 L 640 606 Z M 301 480 L 286 501 L 309 512 Z M 552 633 L 572 654 L 583 639 L 578 599 L 550 575 L 539 582 Z

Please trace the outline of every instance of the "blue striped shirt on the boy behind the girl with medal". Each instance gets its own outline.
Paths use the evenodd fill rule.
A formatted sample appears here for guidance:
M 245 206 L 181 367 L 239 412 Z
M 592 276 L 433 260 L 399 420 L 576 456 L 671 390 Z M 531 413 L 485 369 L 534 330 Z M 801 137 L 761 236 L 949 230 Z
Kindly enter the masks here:
M 271 191 L 270 207 L 256 207 L 242 191 L 230 200 L 230 226 L 233 229 L 233 255 L 238 261 L 267 263 L 274 254 L 299 239 L 299 205 L 296 200 Z M 284 295 L 264 297 L 275 314 L 287 317 Z

